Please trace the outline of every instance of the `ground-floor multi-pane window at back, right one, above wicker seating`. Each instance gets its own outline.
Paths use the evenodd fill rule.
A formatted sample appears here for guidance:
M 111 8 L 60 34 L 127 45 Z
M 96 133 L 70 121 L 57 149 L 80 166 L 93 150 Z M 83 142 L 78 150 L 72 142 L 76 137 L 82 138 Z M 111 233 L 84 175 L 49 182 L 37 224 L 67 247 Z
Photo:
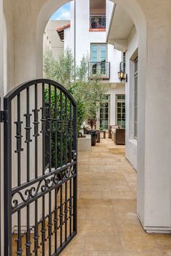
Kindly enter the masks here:
M 125 128 L 125 94 L 116 95 L 116 125 Z

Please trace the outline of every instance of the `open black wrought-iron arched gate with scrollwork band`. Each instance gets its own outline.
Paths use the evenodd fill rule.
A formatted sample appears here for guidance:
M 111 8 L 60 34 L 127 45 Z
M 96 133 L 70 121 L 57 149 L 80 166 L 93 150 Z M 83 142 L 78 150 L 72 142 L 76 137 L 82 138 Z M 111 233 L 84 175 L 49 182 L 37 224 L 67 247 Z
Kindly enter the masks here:
M 4 255 L 56 256 L 77 233 L 77 107 L 52 80 L 4 97 Z

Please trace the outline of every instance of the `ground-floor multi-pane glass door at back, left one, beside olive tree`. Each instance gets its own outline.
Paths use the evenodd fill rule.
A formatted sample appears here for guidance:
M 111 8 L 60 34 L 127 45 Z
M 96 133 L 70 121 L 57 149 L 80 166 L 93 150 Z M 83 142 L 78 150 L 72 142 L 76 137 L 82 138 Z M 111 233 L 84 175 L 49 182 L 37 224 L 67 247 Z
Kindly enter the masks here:
M 100 129 L 107 130 L 109 128 L 110 115 L 110 95 L 105 94 L 100 108 Z

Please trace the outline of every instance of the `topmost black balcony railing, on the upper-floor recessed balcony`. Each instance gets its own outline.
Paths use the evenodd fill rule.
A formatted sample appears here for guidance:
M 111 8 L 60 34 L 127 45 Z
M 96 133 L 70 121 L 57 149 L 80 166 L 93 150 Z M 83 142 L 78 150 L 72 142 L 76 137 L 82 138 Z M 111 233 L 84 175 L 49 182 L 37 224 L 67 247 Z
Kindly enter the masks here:
M 90 29 L 105 29 L 106 15 L 90 15 Z

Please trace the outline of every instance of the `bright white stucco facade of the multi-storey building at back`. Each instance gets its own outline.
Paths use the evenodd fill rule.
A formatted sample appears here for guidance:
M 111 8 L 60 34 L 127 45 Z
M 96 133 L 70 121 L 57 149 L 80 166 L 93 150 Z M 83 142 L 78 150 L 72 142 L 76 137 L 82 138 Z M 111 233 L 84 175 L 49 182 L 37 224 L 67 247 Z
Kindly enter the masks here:
M 71 20 L 70 29 L 64 31 L 64 48 L 70 46 L 73 55 L 75 54 L 76 64 L 79 65 L 83 55 L 91 56 L 92 43 L 106 43 L 106 31 L 89 31 L 90 1 L 76 0 L 71 2 Z M 113 3 L 107 0 L 107 17 L 112 14 Z M 76 12 L 75 12 L 76 9 Z M 76 20 L 76 26 L 75 26 Z M 76 33 L 75 33 L 76 31 Z M 75 45 L 74 45 L 75 42 Z M 76 49 L 76 51 L 75 51 Z M 117 72 L 120 70 L 122 61 L 122 52 L 114 49 L 111 44 L 107 45 L 107 61 L 110 62 L 110 79 L 104 80 L 104 83 L 110 83 L 107 94 L 110 94 L 110 120 L 109 124 L 116 123 L 115 113 L 115 95 L 125 94 L 125 85 L 120 83 Z M 120 85 L 118 86 L 118 83 Z

